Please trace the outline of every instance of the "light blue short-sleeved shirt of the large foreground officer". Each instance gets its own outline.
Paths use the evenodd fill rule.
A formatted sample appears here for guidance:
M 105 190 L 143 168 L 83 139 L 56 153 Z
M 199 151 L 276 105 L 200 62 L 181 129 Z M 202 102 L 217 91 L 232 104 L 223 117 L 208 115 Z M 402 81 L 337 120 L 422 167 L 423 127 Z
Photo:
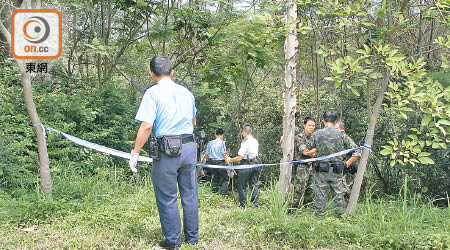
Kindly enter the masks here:
M 192 134 L 195 99 L 185 87 L 169 78 L 147 89 L 135 119 L 153 124 L 155 136 Z

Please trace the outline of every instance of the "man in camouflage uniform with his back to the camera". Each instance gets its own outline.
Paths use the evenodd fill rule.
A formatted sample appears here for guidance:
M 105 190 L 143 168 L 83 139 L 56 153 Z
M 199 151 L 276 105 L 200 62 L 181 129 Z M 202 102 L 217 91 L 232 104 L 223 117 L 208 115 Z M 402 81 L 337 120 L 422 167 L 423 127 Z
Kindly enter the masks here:
M 312 150 L 316 148 L 317 157 L 327 156 L 346 149 L 357 147 L 350 138 L 335 129 L 334 125 L 337 119 L 337 112 L 328 110 L 323 115 L 325 127 L 314 132 L 311 139 L 308 140 L 306 148 Z M 327 203 L 328 190 L 331 187 L 335 193 L 334 202 L 337 213 L 342 214 L 344 209 L 345 183 L 343 171 L 345 167 L 350 166 L 359 157 L 353 155 L 344 163 L 345 155 L 317 161 L 313 167 L 313 193 L 314 193 L 314 212 L 316 215 L 322 215 Z

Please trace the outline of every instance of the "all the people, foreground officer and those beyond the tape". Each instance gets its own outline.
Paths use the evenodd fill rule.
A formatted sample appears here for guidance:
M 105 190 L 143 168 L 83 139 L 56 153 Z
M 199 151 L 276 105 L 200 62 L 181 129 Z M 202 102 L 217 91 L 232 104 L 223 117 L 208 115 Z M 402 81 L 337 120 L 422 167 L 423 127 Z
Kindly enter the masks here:
M 146 89 L 135 119 L 140 122 L 134 148 L 131 150 L 129 167 L 137 172 L 139 152 L 154 133 L 156 142 L 150 144 L 153 158 L 151 178 L 158 206 L 161 229 L 165 239 L 160 247 L 179 249 L 181 247 L 181 220 L 178 212 L 177 196 L 181 196 L 183 207 L 184 240 L 187 244 L 198 242 L 198 184 L 197 184 L 197 145 L 193 135 L 196 126 L 196 107 L 192 93 L 185 87 L 172 81 L 174 70 L 167 57 L 156 56 L 150 61 L 150 76 L 155 84 Z M 298 137 L 299 158 L 320 157 L 336 153 L 344 149 L 356 147 L 355 143 L 343 132 L 337 130 L 335 122 L 337 113 L 327 111 L 323 116 L 325 127 L 314 132 L 315 121 L 305 119 L 305 133 Z M 314 133 L 313 133 L 314 132 Z M 257 164 L 258 141 L 252 136 L 252 126 L 244 124 L 241 131 L 244 140 L 237 156 L 229 157 L 225 152 L 223 130 L 216 131 L 216 140 L 207 148 L 207 160 L 214 165 Z M 314 210 L 322 214 L 325 208 L 328 189 L 336 193 L 335 201 L 339 208 L 344 207 L 345 182 L 343 171 L 356 159 L 357 154 L 344 161 L 344 156 L 334 157 L 315 164 L 297 166 L 295 190 L 303 193 L 306 189 L 307 177 L 312 172 L 315 196 Z M 224 179 L 221 193 L 226 192 L 226 171 L 216 170 L 213 177 L 213 191 L 219 191 L 219 180 Z M 238 171 L 239 203 L 247 205 L 246 187 L 252 190 L 251 203 L 258 206 L 258 168 L 247 168 Z M 225 190 L 225 191 L 224 191 Z

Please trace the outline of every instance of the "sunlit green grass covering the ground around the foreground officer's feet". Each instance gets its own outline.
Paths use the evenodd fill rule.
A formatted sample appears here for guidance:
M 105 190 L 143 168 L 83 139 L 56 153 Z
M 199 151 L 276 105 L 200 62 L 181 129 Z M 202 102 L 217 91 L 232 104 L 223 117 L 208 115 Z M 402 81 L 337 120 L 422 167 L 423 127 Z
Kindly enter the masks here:
M 163 235 L 148 176 L 59 176 L 54 183 L 53 201 L 39 192 L 0 193 L 0 248 L 158 249 Z M 351 216 L 316 217 L 309 208 L 288 213 L 274 188 L 261 191 L 259 208 L 241 209 L 236 195 L 201 184 L 199 244 L 182 249 L 450 248 L 449 208 L 408 193 L 372 196 Z

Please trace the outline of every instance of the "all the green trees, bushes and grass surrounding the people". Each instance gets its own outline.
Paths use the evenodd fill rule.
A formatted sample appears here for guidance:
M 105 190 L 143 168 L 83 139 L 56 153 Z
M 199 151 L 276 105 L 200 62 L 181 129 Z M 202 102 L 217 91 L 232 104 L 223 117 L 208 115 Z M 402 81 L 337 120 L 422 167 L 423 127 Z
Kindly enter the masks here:
M 162 234 L 148 164 L 132 175 L 126 161 L 48 132 L 43 167 L 51 170 L 54 199 L 44 199 L 40 133 L 5 32 L 22 2 L 40 1 L 0 4 L 0 249 L 156 248 Z M 303 117 L 321 120 L 333 108 L 358 142 L 384 97 L 358 209 L 343 218 L 316 217 L 308 206 L 292 212 L 274 188 L 279 168 L 263 168 L 258 209 L 240 209 L 232 195 L 212 195 L 202 184 L 200 243 L 183 248 L 450 249 L 449 0 L 296 2 L 299 132 Z M 44 125 L 129 152 L 133 118 L 151 84 L 149 60 L 169 55 L 175 80 L 195 95 L 196 134 L 204 130 L 209 140 L 224 128 L 234 155 L 239 126 L 249 122 L 263 162 L 282 158 L 284 1 L 58 0 L 41 7 L 64 16 L 62 56 L 48 62 L 47 74 L 25 74 Z

